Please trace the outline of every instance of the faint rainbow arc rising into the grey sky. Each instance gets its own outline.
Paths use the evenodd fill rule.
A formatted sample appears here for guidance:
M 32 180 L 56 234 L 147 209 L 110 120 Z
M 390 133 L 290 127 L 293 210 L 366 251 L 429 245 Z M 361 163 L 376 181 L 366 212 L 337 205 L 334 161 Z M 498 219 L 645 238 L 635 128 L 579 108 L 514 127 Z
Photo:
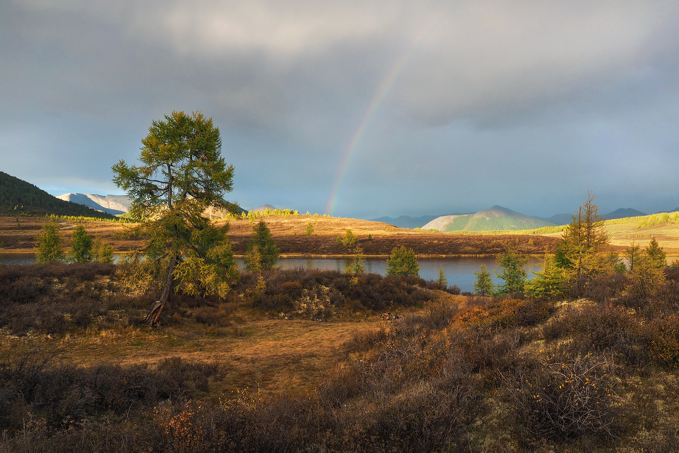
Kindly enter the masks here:
M 354 132 L 354 134 L 351 137 L 351 140 L 349 141 L 349 145 L 346 147 L 346 150 L 344 151 L 344 158 L 342 159 L 342 163 L 339 164 L 339 170 L 337 171 L 337 178 L 335 179 L 335 183 L 333 184 L 332 192 L 330 192 L 330 197 L 328 198 L 328 201 L 325 204 L 325 213 L 327 213 L 328 215 L 332 215 L 333 211 L 335 211 L 335 204 L 337 204 L 337 194 L 339 193 L 339 187 L 342 187 L 342 181 L 344 180 L 344 177 L 346 176 L 346 171 L 349 168 L 349 164 L 351 163 L 351 160 L 354 157 L 356 147 L 361 142 L 361 138 L 363 138 L 363 132 L 365 132 L 365 128 L 367 128 L 368 123 L 375 114 L 375 111 L 378 109 L 378 107 L 380 107 L 380 103 L 384 101 L 386 94 L 392 88 L 396 79 L 399 77 L 399 75 L 401 75 L 401 72 L 405 67 L 405 63 L 407 62 L 410 55 L 413 53 L 413 50 L 415 50 L 415 48 L 418 46 L 418 43 L 420 41 L 421 39 L 417 39 L 416 41 L 414 41 L 414 43 L 409 48 L 407 48 L 405 52 L 403 52 L 399 59 L 396 60 L 396 62 L 394 62 L 394 65 L 392 65 L 386 77 L 384 77 L 384 80 L 382 80 L 382 83 L 378 86 L 378 90 L 375 92 L 375 95 L 368 104 L 368 108 L 365 109 L 363 119 L 359 123 L 359 127 L 356 128 L 356 131 Z

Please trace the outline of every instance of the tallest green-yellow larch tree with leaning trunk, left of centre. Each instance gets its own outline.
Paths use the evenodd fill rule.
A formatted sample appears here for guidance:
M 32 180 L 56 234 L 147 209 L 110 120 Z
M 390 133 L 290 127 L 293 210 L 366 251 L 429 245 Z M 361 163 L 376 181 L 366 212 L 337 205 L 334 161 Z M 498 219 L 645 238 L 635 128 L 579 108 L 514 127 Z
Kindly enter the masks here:
M 141 222 L 136 233 L 147 238 L 145 247 L 126 257 L 121 282 L 162 288 L 147 315 L 153 325 L 172 289 L 225 297 L 238 278 L 228 223 L 216 228 L 204 216 L 208 208 L 235 213 L 236 204 L 223 199 L 233 189 L 234 167 L 221 157 L 219 128 L 200 112 L 165 115 L 141 143 L 141 165 L 121 160 L 113 166 L 113 181 L 132 200 L 130 217 Z

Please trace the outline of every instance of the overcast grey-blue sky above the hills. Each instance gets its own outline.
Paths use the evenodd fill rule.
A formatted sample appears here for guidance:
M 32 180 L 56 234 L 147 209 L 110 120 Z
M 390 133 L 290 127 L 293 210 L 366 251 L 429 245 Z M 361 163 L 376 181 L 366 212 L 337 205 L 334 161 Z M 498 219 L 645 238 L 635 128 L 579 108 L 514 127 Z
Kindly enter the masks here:
M 676 0 L 5 0 L 0 170 L 121 194 L 151 121 L 200 110 L 245 208 L 674 209 L 678 23 Z

